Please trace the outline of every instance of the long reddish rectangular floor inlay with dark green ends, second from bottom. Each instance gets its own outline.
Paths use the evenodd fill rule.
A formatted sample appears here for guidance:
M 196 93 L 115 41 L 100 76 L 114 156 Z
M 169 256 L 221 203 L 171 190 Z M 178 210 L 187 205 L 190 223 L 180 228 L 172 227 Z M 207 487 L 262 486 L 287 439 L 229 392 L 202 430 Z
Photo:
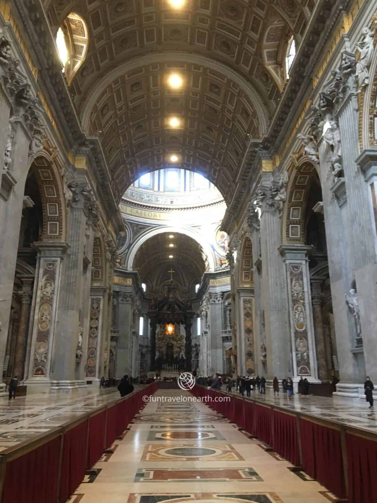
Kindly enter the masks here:
M 262 482 L 253 468 L 138 468 L 135 482 Z

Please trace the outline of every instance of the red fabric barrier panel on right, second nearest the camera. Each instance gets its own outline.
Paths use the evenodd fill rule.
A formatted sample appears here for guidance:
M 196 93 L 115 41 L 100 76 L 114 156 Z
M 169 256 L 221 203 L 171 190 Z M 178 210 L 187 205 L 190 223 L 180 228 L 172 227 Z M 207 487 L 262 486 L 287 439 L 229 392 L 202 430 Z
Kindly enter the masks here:
M 344 498 L 340 432 L 303 419 L 300 428 L 304 470 L 336 496 Z

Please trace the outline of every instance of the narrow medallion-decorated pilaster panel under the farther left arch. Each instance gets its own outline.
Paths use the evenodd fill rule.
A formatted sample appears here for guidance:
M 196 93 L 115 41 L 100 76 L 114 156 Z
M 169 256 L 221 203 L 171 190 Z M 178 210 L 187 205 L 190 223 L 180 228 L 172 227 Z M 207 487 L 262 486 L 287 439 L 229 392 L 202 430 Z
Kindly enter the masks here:
M 90 297 L 89 337 L 87 346 L 86 378 L 100 378 L 99 348 L 101 340 L 102 297 Z M 100 378 L 101 379 L 101 378 Z

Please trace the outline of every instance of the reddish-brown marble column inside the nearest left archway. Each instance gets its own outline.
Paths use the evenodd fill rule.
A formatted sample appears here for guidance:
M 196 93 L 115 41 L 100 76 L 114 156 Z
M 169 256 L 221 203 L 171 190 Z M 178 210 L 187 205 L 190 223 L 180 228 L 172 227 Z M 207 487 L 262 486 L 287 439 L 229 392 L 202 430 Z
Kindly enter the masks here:
M 24 379 L 24 369 L 25 369 L 25 358 L 26 358 L 26 347 L 28 343 L 28 331 L 29 331 L 29 317 L 30 317 L 30 306 L 32 301 L 32 289 L 31 285 L 34 281 L 29 280 L 29 285 L 25 285 L 21 293 L 21 311 L 20 320 L 17 333 L 16 341 L 16 353 L 15 353 L 15 363 L 13 374 L 18 377 L 19 381 Z

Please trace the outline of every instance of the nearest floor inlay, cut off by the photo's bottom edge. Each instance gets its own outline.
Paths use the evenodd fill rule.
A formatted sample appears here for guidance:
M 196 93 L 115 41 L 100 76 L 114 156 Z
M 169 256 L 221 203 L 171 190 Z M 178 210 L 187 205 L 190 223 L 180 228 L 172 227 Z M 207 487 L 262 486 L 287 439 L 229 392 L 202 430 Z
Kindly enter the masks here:
M 131 493 L 127 503 L 179 503 L 181 501 L 195 501 L 195 503 L 284 503 L 275 492 L 252 492 L 247 494 L 227 492 L 218 494 L 213 492 L 181 493 Z M 304 503 L 298 501 L 298 503 Z

